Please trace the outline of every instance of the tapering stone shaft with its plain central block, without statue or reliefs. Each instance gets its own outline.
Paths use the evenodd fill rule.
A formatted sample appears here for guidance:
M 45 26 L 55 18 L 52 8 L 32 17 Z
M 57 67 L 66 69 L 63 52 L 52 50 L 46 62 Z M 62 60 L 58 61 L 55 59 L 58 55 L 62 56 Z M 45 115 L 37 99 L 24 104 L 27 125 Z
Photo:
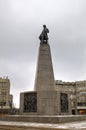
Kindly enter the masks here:
M 37 112 L 43 115 L 58 114 L 58 92 L 55 80 L 49 44 L 39 46 L 38 63 L 35 79 L 37 92 Z

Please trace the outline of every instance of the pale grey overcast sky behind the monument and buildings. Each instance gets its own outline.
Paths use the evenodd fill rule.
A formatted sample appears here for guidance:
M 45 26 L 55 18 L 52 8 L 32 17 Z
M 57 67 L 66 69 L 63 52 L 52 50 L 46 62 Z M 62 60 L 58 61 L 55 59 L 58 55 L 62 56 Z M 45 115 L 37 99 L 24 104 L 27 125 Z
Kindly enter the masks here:
M 0 0 L 0 77 L 17 107 L 20 92 L 34 89 L 43 24 L 55 80 L 86 80 L 86 0 Z

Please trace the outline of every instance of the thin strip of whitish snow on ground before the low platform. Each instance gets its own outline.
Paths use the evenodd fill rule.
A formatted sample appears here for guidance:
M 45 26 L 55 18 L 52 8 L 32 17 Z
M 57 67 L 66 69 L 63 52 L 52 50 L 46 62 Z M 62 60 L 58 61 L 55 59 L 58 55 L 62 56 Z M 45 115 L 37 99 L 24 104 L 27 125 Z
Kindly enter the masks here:
M 60 123 L 60 124 L 43 124 L 43 123 L 30 123 L 30 122 L 11 122 L 11 121 L 0 121 L 0 125 L 11 125 L 11 126 L 32 126 L 32 127 L 44 127 L 44 128 L 61 128 L 71 130 L 86 129 L 86 121 Z

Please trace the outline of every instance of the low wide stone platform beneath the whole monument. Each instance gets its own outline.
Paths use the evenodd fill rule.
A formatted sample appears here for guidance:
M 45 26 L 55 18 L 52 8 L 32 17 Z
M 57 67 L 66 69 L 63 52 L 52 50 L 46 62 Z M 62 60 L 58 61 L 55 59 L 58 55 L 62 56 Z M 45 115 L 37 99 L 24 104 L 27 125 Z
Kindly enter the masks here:
M 86 116 L 83 115 L 66 115 L 66 116 L 40 116 L 40 115 L 16 115 L 16 116 L 0 116 L 0 121 L 14 121 L 14 122 L 34 122 L 34 123 L 67 123 L 75 121 L 85 121 Z

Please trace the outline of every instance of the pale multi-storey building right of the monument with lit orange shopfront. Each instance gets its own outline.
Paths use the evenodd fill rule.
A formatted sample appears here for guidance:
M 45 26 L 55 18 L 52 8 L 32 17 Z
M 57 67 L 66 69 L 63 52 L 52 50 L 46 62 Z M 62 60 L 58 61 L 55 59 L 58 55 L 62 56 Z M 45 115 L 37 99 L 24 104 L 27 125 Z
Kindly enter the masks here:
M 68 94 L 70 114 L 86 114 L 86 81 L 55 81 L 55 89 Z

